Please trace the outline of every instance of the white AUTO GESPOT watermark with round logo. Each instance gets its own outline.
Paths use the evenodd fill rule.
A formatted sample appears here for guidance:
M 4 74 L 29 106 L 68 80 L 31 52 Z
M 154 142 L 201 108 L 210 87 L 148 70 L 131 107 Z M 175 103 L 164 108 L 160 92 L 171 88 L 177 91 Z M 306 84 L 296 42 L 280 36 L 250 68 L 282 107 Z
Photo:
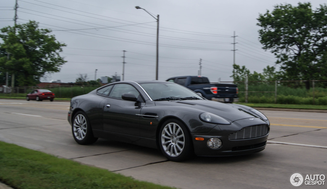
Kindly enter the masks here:
M 303 177 L 301 173 L 295 172 L 289 177 L 289 183 L 294 187 L 304 185 L 325 185 L 325 175 L 306 175 Z

